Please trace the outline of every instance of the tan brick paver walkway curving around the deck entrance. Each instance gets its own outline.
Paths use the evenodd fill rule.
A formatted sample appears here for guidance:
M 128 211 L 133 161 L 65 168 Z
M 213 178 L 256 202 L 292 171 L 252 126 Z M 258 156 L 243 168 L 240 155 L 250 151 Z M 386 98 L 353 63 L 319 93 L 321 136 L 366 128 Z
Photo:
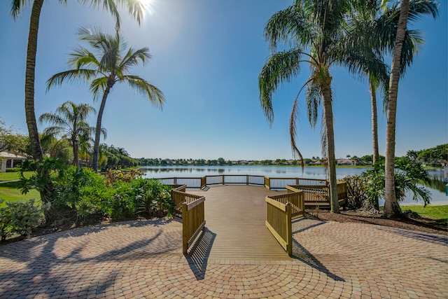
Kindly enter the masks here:
M 0 298 L 448 297 L 442 235 L 301 219 L 294 259 L 211 260 L 183 256 L 181 230 L 127 221 L 0 246 Z M 212 240 L 206 231 L 197 252 Z

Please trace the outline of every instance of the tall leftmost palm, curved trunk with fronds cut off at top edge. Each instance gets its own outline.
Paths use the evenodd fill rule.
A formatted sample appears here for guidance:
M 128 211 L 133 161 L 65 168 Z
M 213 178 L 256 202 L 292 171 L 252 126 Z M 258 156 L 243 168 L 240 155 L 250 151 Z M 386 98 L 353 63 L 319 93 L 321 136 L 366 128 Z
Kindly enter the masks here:
M 144 4 L 136 0 L 78 0 L 82 4 L 90 2 L 92 8 L 102 7 L 105 11 L 109 11 L 116 19 L 116 28 L 120 28 L 120 14 L 118 13 L 118 6 L 125 6 L 130 15 L 141 21 L 143 16 Z M 66 0 L 59 0 L 61 4 L 66 4 Z M 25 118 L 27 119 L 27 127 L 29 132 L 29 139 L 31 143 L 31 153 L 34 159 L 43 162 L 43 151 L 41 148 L 41 141 L 39 139 L 36 113 L 34 111 L 34 81 L 36 68 L 36 52 L 37 52 L 37 36 L 39 20 L 41 18 L 41 11 L 44 0 L 12 0 L 11 1 L 11 15 L 13 18 L 18 18 L 22 8 L 31 4 L 31 16 L 29 20 L 29 34 L 27 46 L 27 63 L 25 68 Z M 38 167 L 40 164 L 38 164 Z M 43 170 L 43 169 L 41 169 Z M 38 171 L 41 176 L 50 176 L 49 173 Z M 43 178 L 48 180 L 48 178 Z M 50 188 L 44 188 L 42 192 Z M 48 194 L 41 193 L 41 197 L 48 197 Z

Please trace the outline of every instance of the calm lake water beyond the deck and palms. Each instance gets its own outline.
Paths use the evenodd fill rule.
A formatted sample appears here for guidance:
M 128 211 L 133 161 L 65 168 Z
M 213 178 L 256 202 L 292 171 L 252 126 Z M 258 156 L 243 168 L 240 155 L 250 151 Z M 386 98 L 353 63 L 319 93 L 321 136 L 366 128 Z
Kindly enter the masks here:
M 300 177 L 305 179 L 326 179 L 325 169 L 323 167 L 288 167 L 288 166 L 258 166 L 258 165 L 235 165 L 235 166 L 146 166 L 141 170 L 147 178 L 169 178 L 169 177 L 201 177 L 214 176 L 220 174 L 248 174 L 253 176 L 279 177 Z M 337 179 L 344 176 L 360 174 L 365 168 L 337 168 Z M 448 196 L 444 193 L 443 171 L 429 171 L 431 177 L 430 186 L 426 188 L 431 193 L 431 204 L 448 204 Z M 380 202 L 383 204 L 383 202 Z M 409 196 L 402 204 L 421 204 L 412 200 Z

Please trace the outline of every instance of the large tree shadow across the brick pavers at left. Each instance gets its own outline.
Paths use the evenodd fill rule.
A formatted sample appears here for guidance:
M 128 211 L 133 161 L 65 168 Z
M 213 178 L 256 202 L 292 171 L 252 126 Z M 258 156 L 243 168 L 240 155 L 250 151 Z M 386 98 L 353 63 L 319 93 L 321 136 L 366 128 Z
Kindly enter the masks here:
M 94 230 L 100 229 L 94 228 Z M 57 256 L 56 249 L 61 246 L 59 244 L 56 247 L 57 242 L 61 240 L 70 242 L 65 238 L 84 235 L 74 230 L 69 235 L 57 233 L 47 235 L 45 238 L 1 246 L 0 298 L 25 298 L 36 295 L 60 297 L 72 292 L 79 293 L 80 297 L 83 297 L 87 291 L 97 295 L 105 293 L 108 288 L 113 287 L 117 279 L 123 279 L 124 271 L 127 270 L 126 265 L 129 265 L 128 261 L 141 260 L 141 263 L 145 263 L 151 256 L 179 250 L 181 242 L 167 243 L 167 238 L 160 237 L 162 233 L 163 227 L 160 225 L 148 239 L 139 239 L 123 247 L 117 244 L 119 247 L 117 249 L 112 248 L 87 257 L 80 254 L 86 245 L 89 246 L 88 243 L 83 243 L 82 239 L 75 239 L 76 246 L 73 246 L 71 251 L 64 252 L 64 257 Z M 177 236 L 177 239 L 180 240 L 181 235 Z M 111 263 L 104 263 L 108 261 Z

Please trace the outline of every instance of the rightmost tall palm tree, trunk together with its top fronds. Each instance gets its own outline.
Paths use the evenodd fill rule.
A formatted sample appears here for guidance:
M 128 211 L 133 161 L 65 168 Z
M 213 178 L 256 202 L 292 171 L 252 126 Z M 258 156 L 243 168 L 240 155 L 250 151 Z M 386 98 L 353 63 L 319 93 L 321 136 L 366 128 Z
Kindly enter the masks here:
M 385 4 L 387 1 L 383 1 Z M 398 8 L 400 5 L 400 9 Z M 422 15 L 432 15 L 433 18 L 437 17 L 438 4 L 433 0 L 402 0 L 400 4 L 394 3 L 393 8 L 399 13 L 391 14 L 389 18 L 397 18 L 398 22 L 395 24 L 395 32 L 393 35 L 394 42 L 386 41 L 390 39 L 388 28 L 382 27 L 379 23 L 379 28 L 374 32 L 379 32 L 379 36 L 385 37 L 384 48 L 388 48 L 393 53 L 391 64 L 391 78 L 389 81 L 389 95 L 387 104 L 387 125 L 386 125 L 386 165 L 385 165 L 385 202 L 384 202 L 384 215 L 395 216 L 401 214 L 400 205 L 395 194 L 395 124 L 396 124 L 396 111 L 397 111 L 397 98 L 398 98 L 398 83 L 400 81 L 400 74 L 402 69 L 409 64 L 405 61 L 405 57 L 408 54 L 409 47 L 406 47 L 407 39 L 407 22 L 408 20 L 413 22 L 419 20 Z

